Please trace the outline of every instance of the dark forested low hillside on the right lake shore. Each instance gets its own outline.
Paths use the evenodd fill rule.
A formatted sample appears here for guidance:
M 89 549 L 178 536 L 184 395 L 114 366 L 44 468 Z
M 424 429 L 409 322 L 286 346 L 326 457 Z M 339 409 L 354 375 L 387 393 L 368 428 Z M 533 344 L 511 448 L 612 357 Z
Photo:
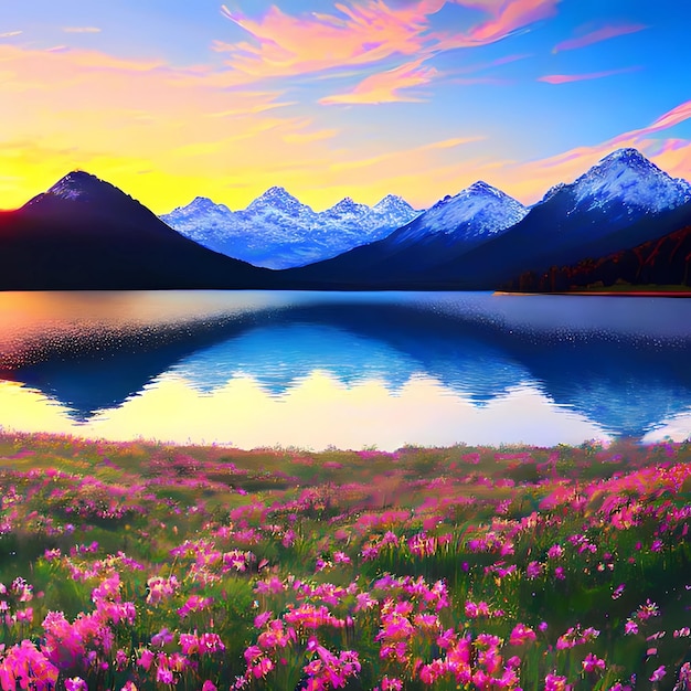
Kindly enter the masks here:
M 691 291 L 691 225 L 597 259 L 548 272 L 527 272 L 507 283 L 506 290 L 552 293 L 608 288 L 615 284 L 636 286 L 687 286 Z

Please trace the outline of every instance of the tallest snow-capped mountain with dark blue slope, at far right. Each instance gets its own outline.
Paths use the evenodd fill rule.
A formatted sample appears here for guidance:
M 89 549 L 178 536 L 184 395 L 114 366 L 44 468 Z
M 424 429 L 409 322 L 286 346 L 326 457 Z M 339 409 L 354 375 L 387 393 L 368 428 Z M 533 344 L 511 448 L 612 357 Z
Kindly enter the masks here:
M 544 272 L 635 247 L 680 227 L 691 185 L 636 149 L 603 158 L 574 182 L 552 188 L 514 226 L 437 267 L 461 286 L 492 287 L 524 272 Z

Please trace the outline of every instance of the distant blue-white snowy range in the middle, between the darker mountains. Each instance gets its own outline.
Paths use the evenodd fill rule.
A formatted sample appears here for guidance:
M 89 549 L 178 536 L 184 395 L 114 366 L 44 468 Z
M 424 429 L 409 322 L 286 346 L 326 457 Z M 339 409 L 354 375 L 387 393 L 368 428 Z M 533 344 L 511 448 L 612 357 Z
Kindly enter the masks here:
M 287 268 L 385 237 L 418 213 L 392 194 L 372 208 L 346 198 L 316 212 L 274 187 L 240 211 L 198 196 L 161 220 L 210 249 L 256 266 Z

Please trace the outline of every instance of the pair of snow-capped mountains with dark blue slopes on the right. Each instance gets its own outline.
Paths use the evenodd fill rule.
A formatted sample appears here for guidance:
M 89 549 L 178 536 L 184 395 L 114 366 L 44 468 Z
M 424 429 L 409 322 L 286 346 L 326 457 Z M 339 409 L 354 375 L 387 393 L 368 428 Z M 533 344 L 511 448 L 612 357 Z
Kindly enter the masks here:
M 602 257 L 689 223 L 691 185 L 637 150 L 619 149 L 530 210 L 475 183 L 379 243 L 286 275 L 302 288 L 488 290 L 527 270 Z

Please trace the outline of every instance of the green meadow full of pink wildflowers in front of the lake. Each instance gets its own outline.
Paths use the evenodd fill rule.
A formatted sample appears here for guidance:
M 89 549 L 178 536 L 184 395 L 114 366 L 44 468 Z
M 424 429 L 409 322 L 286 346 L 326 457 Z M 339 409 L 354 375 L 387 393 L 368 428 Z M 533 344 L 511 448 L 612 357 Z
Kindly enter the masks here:
M 691 689 L 691 444 L 0 435 L 0 688 Z

